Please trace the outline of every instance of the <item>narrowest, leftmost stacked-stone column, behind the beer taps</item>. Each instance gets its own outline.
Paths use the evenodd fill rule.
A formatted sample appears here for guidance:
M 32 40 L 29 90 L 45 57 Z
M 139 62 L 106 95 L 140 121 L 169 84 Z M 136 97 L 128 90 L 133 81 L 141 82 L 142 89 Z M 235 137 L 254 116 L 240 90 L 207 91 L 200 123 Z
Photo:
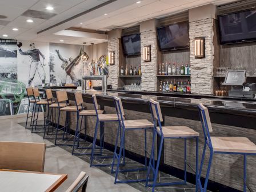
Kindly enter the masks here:
M 113 89 L 118 87 L 118 71 L 119 71 L 119 39 L 110 39 L 107 45 L 108 53 L 110 51 L 115 52 L 115 65 L 109 66 L 109 78 L 107 79 L 107 84 L 111 84 Z

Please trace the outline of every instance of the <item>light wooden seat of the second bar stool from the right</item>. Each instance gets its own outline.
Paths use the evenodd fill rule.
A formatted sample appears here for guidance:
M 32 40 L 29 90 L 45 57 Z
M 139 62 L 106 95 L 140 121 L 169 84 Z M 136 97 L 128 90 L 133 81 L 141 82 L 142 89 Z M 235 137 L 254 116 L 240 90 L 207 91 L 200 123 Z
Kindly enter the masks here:
M 161 133 L 160 128 L 157 131 Z M 199 133 L 186 126 L 162 126 L 163 137 L 198 137 Z

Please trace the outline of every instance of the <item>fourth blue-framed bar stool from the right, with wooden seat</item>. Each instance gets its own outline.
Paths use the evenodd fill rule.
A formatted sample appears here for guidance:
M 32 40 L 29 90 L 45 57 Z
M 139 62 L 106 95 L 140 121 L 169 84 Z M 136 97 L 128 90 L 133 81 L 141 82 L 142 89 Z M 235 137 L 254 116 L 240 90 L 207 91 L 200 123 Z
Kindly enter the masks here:
M 100 114 L 98 113 L 99 108 L 98 108 L 98 102 L 97 102 L 97 98 L 96 95 L 93 94 L 92 95 L 93 98 L 93 104 L 94 104 L 94 109 L 96 112 L 96 125 L 95 125 L 95 131 L 94 131 L 94 138 L 93 138 L 93 149 L 91 149 L 91 161 L 90 161 L 90 166 L 93 167 L 103 167 L 103 166 L 112 166 L 113 164 L 93 164 L 93 160 L 94 159 L 102 159 L 102 158 L 113 158 L 113 155 L 111 156 L 106 156 L 106 155 L 102 155 L 102 149 L 104 147 L 104 141 L 103 141 L 103 137 L 104 137 L 104 130 L 103 128 L 103 123 L 104 122 L 118 122 L 118 117 L 117 114 Z M 100 131 L 99 131 L 99 149 L 100 149 L 100 154 L 95 154 L 95 149 L 96 149 L 96 139 L 97 139 L 97 133 L 98 133 L 98 125 L 100 125 Z M 120 123 L 118 125 L 118 130 L 120 127 Z M 117 134 L 117 138 L 115 139 L 115 148 L 117 147 L 117 139 L 118 139 L 118 134 Z M 116 149 L 115 149 L 116 150 Z M 99 157 L 94 157 L 95 155 L 99 156 Z M 124 161 L 123 163 L 125 163 L 125 151 L 123 150 L 123 157 L 124 157 Z

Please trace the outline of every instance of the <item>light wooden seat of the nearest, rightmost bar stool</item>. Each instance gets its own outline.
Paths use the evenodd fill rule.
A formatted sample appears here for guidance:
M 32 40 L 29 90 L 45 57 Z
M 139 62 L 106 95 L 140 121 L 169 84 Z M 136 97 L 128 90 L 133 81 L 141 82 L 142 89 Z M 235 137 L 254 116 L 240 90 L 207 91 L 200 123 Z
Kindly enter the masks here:
M 211 137 L 215 152 L 256 153 L 256 145 L 247 137 Z

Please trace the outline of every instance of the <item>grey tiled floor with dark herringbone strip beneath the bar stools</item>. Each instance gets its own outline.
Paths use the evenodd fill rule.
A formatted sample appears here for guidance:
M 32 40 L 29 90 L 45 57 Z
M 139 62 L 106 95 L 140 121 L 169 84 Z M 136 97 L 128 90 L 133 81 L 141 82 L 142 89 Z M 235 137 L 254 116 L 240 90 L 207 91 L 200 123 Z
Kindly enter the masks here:
M 89 184 L 87 186 L 88 191 L 151 191 L 150 187 L 145 187 L 145 183 L 129 183 L 114 185 L 114 174 L 111 174 L 111 167 L 93 167 L 89 165 L 90 155 L 74 156 L 71 155 L 72 147 L 70 146 L 54 146 L 53 139 L 42 139 L 42 133 L 31 134 L 30 129 L 25 129 L 25 118 L 13 118 L 0 120 L 0 141 L 26 141 L 26 142 L 46 142 L 46 161 L 45 171 L 52 173 L 67 173 L 68 179 L 59 187 L 58 191 L 65 191 L 71 182 L 77 177 L 80 171 L 86 171 L 90 175 Z M 50 136 L 53 138 L 53 136 Z M 72 139 L 71 139 L 72 141 Z M 59 143 L 63 143 L 59 140 Z M 70 142 L 73 143 L 73 142 Z M 90 146 L 89 142 L 82 142 L 81 146 Z M 85 153 L 90 150 L 79 149 L 76 152 Z M 104 154 L 112 155 L 113 153 L 107 150 L 103 151 Z M 95 163 L 111 163 L 112 159 L 100 159 Z M 142 166 L 138 162 L 130 159 L 125 159 L 127 167 Z M 120 173 L 118 179 L 134 179 L 145 178 L 146 171 L 137 171 L 135 173 Z M 165 173 L 159 173 L 158 181 L 180 181 L 179 179 L 172 177 Z M 165 186 L 156 187 L 155 191 L 172 191 L 172 192 L 184 192 L 195 191 L 195 186 L 187 183 L 182 186 Z

